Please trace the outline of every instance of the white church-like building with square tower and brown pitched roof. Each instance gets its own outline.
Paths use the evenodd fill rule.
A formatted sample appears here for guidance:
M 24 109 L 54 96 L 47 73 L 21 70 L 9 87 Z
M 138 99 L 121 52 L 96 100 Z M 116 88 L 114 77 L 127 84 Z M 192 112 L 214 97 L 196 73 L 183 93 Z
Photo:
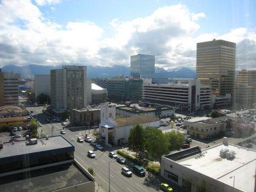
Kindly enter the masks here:
M 116 107 L 108 103 L 100 106 L 100 141 L 106 145 L 122 145 L 128 143 L 130 130 L 134 125 L 142 127 L 159 127 L 159 120 L 153 115 L 115 118 Z

